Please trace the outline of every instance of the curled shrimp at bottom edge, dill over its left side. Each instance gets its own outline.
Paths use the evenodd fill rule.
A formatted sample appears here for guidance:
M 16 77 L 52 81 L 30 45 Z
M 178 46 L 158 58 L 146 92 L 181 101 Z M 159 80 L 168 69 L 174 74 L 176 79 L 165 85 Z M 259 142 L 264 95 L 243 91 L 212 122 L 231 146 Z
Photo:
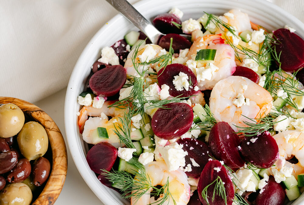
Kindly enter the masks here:
M 169 186 L 164 192 L 170 191 L 170 196 L 164 204 L 184 205 L 187 204 L 190 199 L 190 185 L 188 184 L 187 175 L 180 169 L 175 171 L 168 171 L 168 167 L 164 161 L 154 161 L 145 165 L 147 179 L 150 179 L 151 186 L 161 185 L 164 186 L 169 181 Z M 138 191 L 138 190 L 137 190 Z M 135 197 L 131 197 L 132 205 L 147 205 L 160 200 L 163 200 L 164 196 L 160 196 L 157 200 L 154 197 L 150 198 L 150 192 L 152 188 L 143 194 L 138 200 Z M 136 191 L 133 191 L 135 193 Z M 172 200 L 174 199 L 174 201 Z

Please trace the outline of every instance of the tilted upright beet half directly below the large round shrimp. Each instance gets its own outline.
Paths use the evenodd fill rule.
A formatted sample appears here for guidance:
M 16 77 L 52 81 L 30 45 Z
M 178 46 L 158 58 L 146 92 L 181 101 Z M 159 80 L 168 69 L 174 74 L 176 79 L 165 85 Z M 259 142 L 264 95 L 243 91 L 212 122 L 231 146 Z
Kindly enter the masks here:
M 238 146 L 240 138 L 227 122 L 216 123 L 209 134 L 209 147 L 216 159 L 223 160 L 231 169 L 244 166 Z

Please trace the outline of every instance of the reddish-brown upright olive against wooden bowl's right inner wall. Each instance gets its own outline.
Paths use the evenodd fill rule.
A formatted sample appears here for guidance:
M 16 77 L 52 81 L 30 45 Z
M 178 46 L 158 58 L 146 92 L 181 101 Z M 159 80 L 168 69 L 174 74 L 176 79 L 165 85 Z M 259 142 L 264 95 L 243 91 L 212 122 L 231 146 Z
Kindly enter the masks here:
M 33 167 L 33 182 L 35 186 L 43 184 L 50 174 L 51 165 L 49 160 L 44 157 L 39 157 Z

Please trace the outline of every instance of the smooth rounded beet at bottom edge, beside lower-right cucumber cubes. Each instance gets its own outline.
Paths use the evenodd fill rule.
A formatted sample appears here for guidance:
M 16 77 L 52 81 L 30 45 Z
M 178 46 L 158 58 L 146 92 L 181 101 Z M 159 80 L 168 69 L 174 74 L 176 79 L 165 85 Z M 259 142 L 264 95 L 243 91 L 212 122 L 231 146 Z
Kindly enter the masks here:
M 281 184 L 275 182 L 273 176 L 269 176 L 268 184 L 264 191 L 257 195 L 255 205 L 283 205 L 285 200 L 285 191 Z

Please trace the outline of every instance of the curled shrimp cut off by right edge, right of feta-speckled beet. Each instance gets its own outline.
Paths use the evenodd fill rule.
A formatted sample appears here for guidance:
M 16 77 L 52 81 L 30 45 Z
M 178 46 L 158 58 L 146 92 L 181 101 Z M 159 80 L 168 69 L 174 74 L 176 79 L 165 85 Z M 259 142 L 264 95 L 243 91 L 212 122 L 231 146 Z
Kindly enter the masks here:
M 284 159 L 295 156 L 299 162 L 293 164 L 292 173 L 297 179 L 304 173 L 304 133 L 296 130 L 286 130 L 273 136 L 279 147 L 279 155 Z

